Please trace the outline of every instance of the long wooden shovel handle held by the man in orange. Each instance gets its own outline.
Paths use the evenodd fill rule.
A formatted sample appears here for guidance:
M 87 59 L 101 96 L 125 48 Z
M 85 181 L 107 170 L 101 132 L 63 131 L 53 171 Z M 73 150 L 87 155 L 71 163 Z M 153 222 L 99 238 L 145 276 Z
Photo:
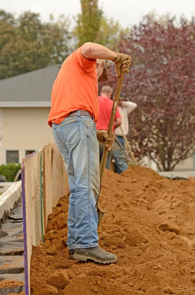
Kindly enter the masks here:
M 115 91 L 114 101 L 113 101 L 112 110 L 111 110 L 111 118 L 110 118 L 109 128 L 108 128 L 108 136 L 111 136 L 111 132 L 112 132 L 113 124 L 114 124 L 114 119 L 115 119 L 115 114 L 116 114 L 116 109 L 117 109 L 117 105 L 118 105 L 118 99 L 119 99 L 120 91 L 121 91 L 122 84 L 123 84 L 124 74 L 125 73 L 123 71 L 121 71 L 120 77 L 119 77 L 117 85 L 116 85 L 116 91 Z M 108 156 L 108 149 L 106 147 L 104 147 L 102 161 L 101 161 L 101 165 L 100 165 L 100 189 L 102 186 L 107 156 Z

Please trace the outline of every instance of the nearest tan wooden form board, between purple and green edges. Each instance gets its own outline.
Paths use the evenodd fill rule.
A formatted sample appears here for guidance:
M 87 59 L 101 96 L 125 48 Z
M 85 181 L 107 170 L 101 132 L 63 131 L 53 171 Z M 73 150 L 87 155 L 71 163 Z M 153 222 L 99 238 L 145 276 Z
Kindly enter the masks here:
M 22 201 L 26 295 L 30 295 L 30 257 L 32 245 L 43 241 L 41 196 L 41 152 L 28 155 L 22 163 Z

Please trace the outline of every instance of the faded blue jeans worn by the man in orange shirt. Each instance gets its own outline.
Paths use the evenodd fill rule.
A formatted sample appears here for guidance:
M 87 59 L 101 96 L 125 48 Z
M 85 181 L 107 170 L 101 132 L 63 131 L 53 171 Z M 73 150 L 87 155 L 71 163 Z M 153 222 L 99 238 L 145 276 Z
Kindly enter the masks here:
M 96 124 L 87 116 L 66 117 L 52 124 L 57 148 L 68 174 L 68 249 L 98 246 L 99 147 Z

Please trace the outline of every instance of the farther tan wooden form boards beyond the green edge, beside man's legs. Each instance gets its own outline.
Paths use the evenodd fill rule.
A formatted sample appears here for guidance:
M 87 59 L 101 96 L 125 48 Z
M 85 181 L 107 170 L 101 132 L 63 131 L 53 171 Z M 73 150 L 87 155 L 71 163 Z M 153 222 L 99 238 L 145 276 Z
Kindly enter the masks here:
M 49 144 L 43 148 L 43 207 L 44 229 L 47 229 L 48 216 L 59 199 L 69 192 L 68 176 L 64 161 L 56 147 Z

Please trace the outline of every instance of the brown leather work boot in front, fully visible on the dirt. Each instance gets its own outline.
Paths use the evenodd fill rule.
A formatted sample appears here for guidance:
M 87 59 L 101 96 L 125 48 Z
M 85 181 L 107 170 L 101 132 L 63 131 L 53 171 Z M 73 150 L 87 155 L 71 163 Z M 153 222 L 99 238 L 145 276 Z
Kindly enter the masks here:
M 87 259 L 89 259 L 102 264 L 110 264 L 118 261 L 114 254 L 104 251 L 99 246 L 93 248 L 79 248 L 74 250 L 75 252 L 73 259 L 76 260 L 87 261 Z

